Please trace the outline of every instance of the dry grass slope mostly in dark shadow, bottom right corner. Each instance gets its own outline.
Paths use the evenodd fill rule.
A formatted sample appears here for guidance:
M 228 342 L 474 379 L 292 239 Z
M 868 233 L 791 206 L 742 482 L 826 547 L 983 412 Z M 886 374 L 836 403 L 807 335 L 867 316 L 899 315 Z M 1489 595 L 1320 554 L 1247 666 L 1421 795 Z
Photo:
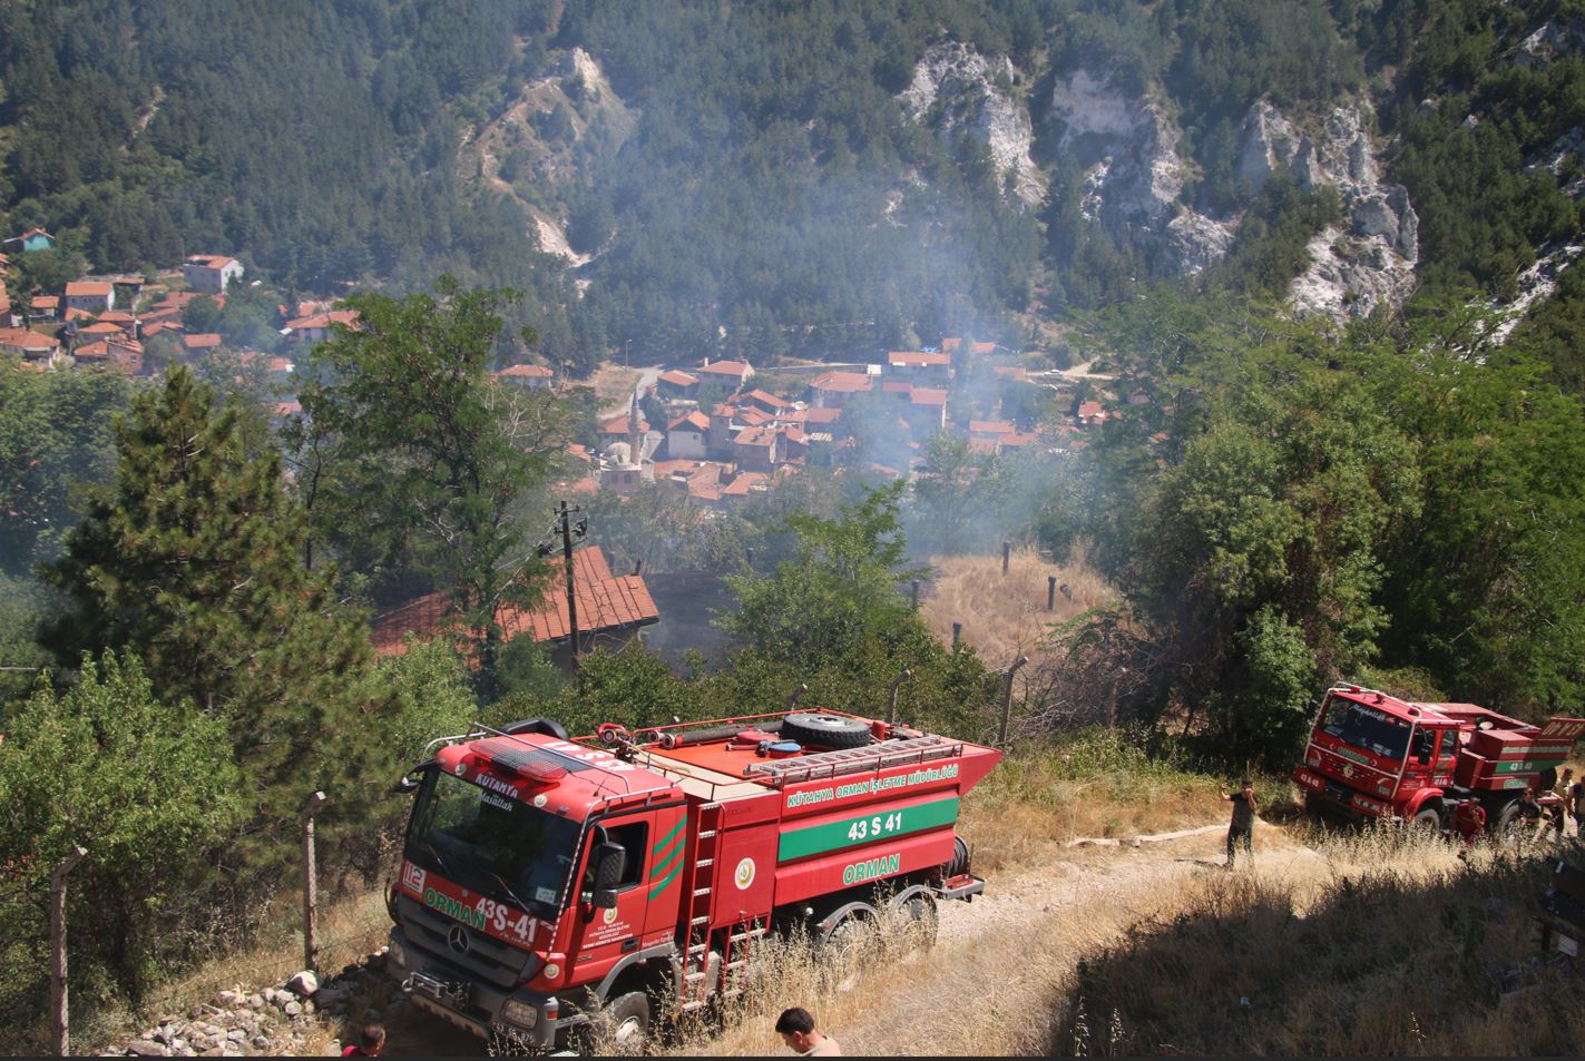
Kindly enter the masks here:
M 1314 852 L 1203 880 L 1181 915 L 1092 955 L 1052 1007 L 1052 1053 L 1577 1053 L 1577 980 L 1533 964 L 1547 860 L 1461 863 L 1395 830 Z

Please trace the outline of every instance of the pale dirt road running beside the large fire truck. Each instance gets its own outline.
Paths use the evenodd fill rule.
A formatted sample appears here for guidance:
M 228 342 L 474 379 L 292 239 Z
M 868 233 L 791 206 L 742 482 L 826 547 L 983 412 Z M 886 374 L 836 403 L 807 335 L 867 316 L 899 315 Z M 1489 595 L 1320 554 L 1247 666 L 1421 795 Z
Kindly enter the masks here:
M 1041 865 L 991 876 L 986 895 L 941 909 L 929 952 L 859 969 L 819 990 L 794 972 L 761 1012 L 710 1036 L 689 1036 L 675 1053 L 781 1053 L 772 1032 L 783 1006 L 808 1006 L 850 1055 L 1043 1055 L 1049 1050 L 1060 987 L 1086 953 L 1130 926 L 1170 918 L 1184 887 L 1216 880 L 1224 833 L 1217 827 L 1163 842 L 1052 849 Z M 1260 876 L 1319 879 L 1325 858 L 1260 823 Z M 1239 868 L 1235 873 L 1249 873 Z M 391 1056 L 485 1053 L 485 1044 L 423 1015 L 390 1020 Z

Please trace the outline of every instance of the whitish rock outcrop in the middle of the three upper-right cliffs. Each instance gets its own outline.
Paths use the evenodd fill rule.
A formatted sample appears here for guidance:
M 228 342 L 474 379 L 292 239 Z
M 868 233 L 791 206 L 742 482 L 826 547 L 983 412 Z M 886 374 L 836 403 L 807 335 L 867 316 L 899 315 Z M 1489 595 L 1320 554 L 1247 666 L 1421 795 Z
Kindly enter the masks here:
M 1179 130 L 1154 100 L 1076 70 L 1052 86 L 1046 120 L 1057 152 L 1089 160 L 1084 215 L 1143 250 L 1154 272 L 1198 272 L 1227 253 L 1235 225 L 1179 201 L 1189 168 L 1174 149 Z

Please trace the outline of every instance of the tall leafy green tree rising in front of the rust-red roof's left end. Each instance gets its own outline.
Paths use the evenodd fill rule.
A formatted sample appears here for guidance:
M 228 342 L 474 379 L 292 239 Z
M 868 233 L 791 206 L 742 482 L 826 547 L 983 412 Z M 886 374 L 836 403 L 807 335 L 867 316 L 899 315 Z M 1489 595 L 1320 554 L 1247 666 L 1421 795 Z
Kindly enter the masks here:
M 496 610 L 533 603 L 540 565 L 525 540 L 528 492 L 553 467 L 571 413 L 545 391 L 502 386 L 487 364 L 509 291 L 357 295 L 311 356 L 301 390 L 320 535 L 355 570 L 406 572 L 453 599 L 488 692 L 501 646 Z M 525 342 L 534 334 L 525 329 Z

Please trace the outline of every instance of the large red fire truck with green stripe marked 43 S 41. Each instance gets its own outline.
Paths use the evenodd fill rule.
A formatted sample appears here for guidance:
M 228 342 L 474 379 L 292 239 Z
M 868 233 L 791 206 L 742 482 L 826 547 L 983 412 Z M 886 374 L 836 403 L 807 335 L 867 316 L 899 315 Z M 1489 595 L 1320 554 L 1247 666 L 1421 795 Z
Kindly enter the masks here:
M 796 711 L 569 740 L 548 719 L 441 738 L 387 903 L 387 969 L 425 1012 L 537 1048 L 623 1044 L 740 993 L 750 941 L 829 942 L 972 899 L 959 798 L 1002 755 Z

